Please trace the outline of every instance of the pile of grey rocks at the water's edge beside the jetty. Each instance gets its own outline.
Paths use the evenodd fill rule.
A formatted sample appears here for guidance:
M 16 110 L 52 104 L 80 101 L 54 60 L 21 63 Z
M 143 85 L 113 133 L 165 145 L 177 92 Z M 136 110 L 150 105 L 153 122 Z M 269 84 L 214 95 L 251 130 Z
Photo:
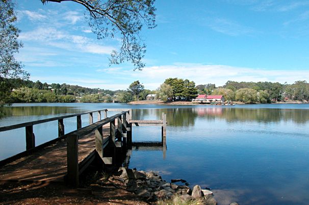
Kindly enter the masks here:
M 208 189 L 201 189 L 199 185 L 195 185 L 193 189 L 186 185 L 177 185 L 172 182 L 186 183 L 185 180 L 176 179 L 166 182 L 162 177 L 154 171 L 138 171 L 120 167 L 118 171 L 103 177 L 90 185 L 93 194 L 100 194 L 99 186 L 106 185 L 109 182 L 118 189 L 123 189 L 135 194 L 138 198 L 143 199 L 147 203 L 157 204 L 158 201 L 169 200 L 175 196 L 177 199 L 190 204 L 190 201 L 198 200 L 200 204 L 215 205 L 217 201 L 213 197 L 213 192 Z M 165 202 L 163 202 L 165 203 Z M 237 205 L 233 202 L 231 205 Z

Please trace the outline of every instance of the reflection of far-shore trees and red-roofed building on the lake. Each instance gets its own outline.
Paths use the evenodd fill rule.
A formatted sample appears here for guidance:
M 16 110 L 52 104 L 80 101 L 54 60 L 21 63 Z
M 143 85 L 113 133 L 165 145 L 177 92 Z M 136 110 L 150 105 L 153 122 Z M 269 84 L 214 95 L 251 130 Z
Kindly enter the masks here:
M 189 127 L 194 126 L 197 118 L 207 120 L 223 119 L 226 122 L 258 123 L 287 122 L 305 124 L 309 121 L 309 110 L 306 109 L 247 109 L 231 107 L 193 107 L 193 108 L 170 108 L 170 109 L 137 109 L 133 116 L 139 119 L 147 119 L 153 114 L 161 119 L 161 113 L 166 113 L 168 126 Z

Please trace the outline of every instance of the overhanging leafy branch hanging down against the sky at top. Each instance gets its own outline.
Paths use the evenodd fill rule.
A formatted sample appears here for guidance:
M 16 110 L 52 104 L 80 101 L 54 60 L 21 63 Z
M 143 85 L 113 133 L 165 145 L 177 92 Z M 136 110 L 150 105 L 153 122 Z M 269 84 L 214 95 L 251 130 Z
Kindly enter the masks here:
M 110 63 L 120 64 L 131 61 L 135 69 L 145 67 L 142 62 L 146 45 L 142 43 L 140 31 L 143 24 L 156 27 L 155 0 L 41 0 L 46 2 L 75 2 L 83 5 L 89 15 L 86 20 L 98 39 L 120 38 L 119 51 L 113 50 Z

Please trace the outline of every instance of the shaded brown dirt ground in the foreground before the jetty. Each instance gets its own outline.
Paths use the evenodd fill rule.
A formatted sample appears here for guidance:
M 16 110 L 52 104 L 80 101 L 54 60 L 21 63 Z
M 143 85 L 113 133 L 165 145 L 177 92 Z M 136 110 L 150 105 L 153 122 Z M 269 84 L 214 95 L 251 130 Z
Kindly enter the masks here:
M 0 204 L 148 204 L 112 181 L 97 184 L 96 173 L 88 173 L 77 189 L 55 182 L 2 182 Z

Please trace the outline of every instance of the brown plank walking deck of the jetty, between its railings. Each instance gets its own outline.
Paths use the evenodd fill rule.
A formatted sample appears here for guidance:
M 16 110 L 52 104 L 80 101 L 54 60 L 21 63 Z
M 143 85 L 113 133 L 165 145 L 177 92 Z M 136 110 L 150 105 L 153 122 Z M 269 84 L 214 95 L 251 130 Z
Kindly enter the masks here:
M 109 127 L 104 127 L 105 132 Z M 107 138 L 106 136 L 105 138 Z M 67 173 L 67 141 L 43 148 L 30 156 L 22 157 L 0 169 L 0 181 L 53 181 L 63 182 Z M 79 163 L 95 150 L 95 133 L 79 139 Z

